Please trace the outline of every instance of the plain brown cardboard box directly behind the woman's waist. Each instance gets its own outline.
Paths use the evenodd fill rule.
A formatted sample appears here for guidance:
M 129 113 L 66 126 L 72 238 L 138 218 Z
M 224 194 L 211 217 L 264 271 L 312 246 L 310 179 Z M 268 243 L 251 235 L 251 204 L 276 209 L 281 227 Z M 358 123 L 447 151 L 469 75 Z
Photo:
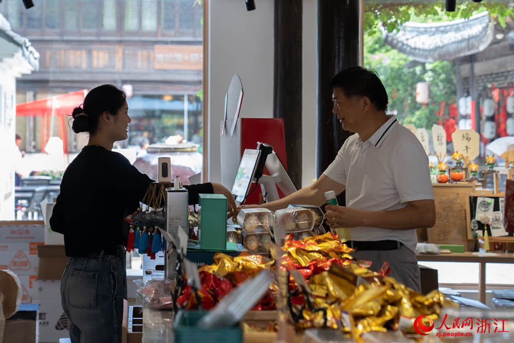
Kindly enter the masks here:
M 38 279 L 61 280 L 68 257 L 64 253 L 64 245 L 39 245 Z

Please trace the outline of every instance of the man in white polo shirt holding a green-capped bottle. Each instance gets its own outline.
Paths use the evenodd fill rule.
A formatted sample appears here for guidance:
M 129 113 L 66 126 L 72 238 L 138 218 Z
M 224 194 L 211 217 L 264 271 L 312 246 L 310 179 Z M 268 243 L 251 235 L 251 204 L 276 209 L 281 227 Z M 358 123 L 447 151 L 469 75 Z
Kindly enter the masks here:
M 420 292 L 416 228 L 435 222 L 428 157 L 416 136 L 386 114 L 386 88 L 374 71 L 348 68 L 331 85 L 333 113 L 356 134 L 314 184 L 259 207 L 321 206 L 326 191 L 346 189 L 346 206 L 326 206 L 327 223 L 348 228 L 356 259 L 372 261 L 376 272 L 387 261 L 390 276 Z

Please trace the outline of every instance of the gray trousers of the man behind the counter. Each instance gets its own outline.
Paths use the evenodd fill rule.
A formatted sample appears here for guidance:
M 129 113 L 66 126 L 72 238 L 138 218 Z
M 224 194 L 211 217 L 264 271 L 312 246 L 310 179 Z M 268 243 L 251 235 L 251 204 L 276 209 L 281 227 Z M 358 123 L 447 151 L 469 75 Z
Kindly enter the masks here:
M 351 255 L 356 260 L 371 261 L 370 269 L 373 272 L 378 272 L 384 261 L 387 261 L 391 269 L 390 277 L 421 293 L 420 272 L 416 255 L 405 245 L 400 245 L 400 248 L 396 250 L 356 250 Z

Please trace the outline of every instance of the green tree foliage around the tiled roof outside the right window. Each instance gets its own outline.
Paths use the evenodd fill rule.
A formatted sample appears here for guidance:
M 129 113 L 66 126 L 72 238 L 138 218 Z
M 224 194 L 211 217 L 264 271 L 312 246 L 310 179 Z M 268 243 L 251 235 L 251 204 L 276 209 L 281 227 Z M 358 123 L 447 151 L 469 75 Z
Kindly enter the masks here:
M 392 32 L 409 21 L 435 23 L 467 19 L 485 10 L 489 11 L 494 22 L 505 27 L 505 19 L 514 13 L 514 1 L 474 3 L 457 0 L 455 12 L 447 12 L 444 1 L 366 1 L 364 66 L 377 71 L 389 95 L 389 111 L 396 114 L 400 122 L 431 129 L 441 119 L 438 115 L 443 101 L 445 112 L 442 119 L 448 116 L 448 106 L 456 102 L 456 64 L 455 61 L 437 61 L 408 68 L 407 63 L 412 58 L 386 45 L 380 26 Z M 415 101 L 416 84 L 420 81 L 429 83 L 431 101 L 427 105 Z

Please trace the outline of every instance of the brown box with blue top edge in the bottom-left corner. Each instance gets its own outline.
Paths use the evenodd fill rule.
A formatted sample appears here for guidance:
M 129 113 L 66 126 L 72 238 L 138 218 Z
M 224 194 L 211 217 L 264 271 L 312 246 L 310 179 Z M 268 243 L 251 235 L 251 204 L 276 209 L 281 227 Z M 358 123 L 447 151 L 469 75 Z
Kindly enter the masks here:
M 4 343 L 38 343 L 38 308 L 36 304 L 20 305 L 5 321 Z

